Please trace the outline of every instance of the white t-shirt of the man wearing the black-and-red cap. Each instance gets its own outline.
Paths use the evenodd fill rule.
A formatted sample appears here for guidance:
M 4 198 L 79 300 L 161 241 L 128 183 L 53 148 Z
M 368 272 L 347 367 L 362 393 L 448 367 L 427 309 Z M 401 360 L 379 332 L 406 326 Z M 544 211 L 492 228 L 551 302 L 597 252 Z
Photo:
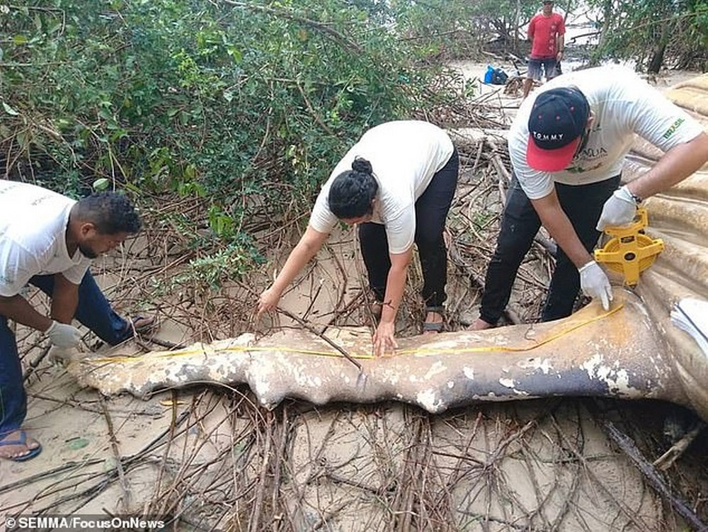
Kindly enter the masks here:
M 571 165 L 558 172 L 532 169 L 526 162 L 528 120 L 535 97 L 526 98 L 509 129 L 509 154 L 519 184 L 530 199 L 547 196 L 554 181 L 585 185 L 622 171 L 634 133 L 664 152 L 689 142 L 703 131 L 700 123 L 675 106 L 634 72 L 598 67 L 570 72 L 544 84 L 535 96 L 559 86 L 576 86 L 595 115 L 588 144 Z

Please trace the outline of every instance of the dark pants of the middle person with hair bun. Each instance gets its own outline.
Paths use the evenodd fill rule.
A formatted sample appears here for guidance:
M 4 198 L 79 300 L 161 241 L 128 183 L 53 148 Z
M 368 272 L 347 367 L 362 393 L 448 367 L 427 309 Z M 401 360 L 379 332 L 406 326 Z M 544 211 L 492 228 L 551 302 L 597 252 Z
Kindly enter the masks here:
M 416 236 L 418 256 L 423 270 L 423 300 L 428 307 L 445 302 L 447 283 L 447 250 L 442 239 L 447 211 L 457 187 L 459 157 L 453 150 L 450 160 L 435 172 L 432 181 L 416 200 Z M 361 253 L 369 276 L 369 286 L 378 301 L 384 300 L 386 280 L 391 269 L 386 229 L 382 224 L 359 225 Z

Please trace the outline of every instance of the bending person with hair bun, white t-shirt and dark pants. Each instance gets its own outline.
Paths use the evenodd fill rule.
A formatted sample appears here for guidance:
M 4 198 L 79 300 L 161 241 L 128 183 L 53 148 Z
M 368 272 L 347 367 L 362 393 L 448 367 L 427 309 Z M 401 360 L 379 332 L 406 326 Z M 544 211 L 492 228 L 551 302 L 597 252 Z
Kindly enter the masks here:
M 261 294 L 258 314 L 275 309 L 283 290 L 341 220 L 358 224 L 369 285 L 381 310 L 373 338 L 375 354 L 396 348 L 394 322 L 413 242 L 423 271 L 423 331 L 440 331 L 447 297 L 442 232 L 455 195 L 458 166 L 450 137 L 433 124 L 401 120 L 368 130 L 322 186 L 307 230 L 273 285 Z

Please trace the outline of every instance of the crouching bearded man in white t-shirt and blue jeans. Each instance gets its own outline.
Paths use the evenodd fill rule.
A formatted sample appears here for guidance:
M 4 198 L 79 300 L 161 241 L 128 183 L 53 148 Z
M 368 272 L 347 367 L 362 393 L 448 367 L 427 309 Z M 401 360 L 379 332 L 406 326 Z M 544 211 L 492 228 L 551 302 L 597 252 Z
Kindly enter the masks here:
M 81 333 L 74 317 L 115 345 L 152 318 L 117 315 L 89 272 L 91 259 L 140 229 L 129 200 L 118 193 L 78 202 L 39 186 L 0 180 L 0 458 L 28 460 L 40 444 L 21 429 L 27 412 L 22 366 L 8 319 L 44 332 L 52 345 L 72 348 Z M 50 316 L 22 295 L 32 284 L 50 295 Z

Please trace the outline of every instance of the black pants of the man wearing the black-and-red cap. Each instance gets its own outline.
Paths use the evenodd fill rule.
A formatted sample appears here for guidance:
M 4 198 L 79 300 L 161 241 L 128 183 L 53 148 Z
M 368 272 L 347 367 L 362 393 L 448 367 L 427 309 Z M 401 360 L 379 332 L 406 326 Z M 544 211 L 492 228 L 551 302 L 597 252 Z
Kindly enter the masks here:
M 589 185 L 562 185 L 556 183 L 561 208 L 588 252 L 598 243 L 600 232 L 595 229 L 603 205 L 619 186 L 619 176 Z M 511 288 L 521 261 L 531 248 L 541 227 L 541 220 L 529 198 L 514 178 L 501 218 L 501 229 L 494 255 L 484 280 L 479 316 L 485 322 L 496 324 L 506 308 Z M 578 268 L 565 252 L 558 248 L 556 267 L 551 278 L 548 298 L 541 315 L 544 322 L 571 315 L 580 290 Z

